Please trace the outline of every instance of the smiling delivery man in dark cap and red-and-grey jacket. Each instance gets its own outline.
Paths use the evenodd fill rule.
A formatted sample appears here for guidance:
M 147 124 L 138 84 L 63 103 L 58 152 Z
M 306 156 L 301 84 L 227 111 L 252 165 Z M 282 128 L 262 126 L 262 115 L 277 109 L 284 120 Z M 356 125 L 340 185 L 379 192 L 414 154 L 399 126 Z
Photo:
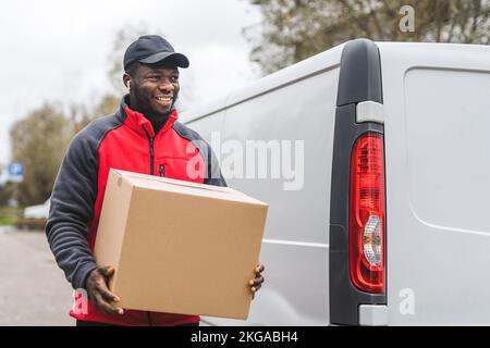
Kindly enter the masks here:
M 226 185 L 209 145 L 177 121 L 179 67 L 188 65 L 188 59 L 162 37 L 139 37 L 124 54 L 123 82 L 130 92 L 120 109 L 79 132 L 65 153 L 46 234 L 58 265 L 77 290 L 70 314 L 79 326 L 199 323 L 197 315 L 123 310 L 117 294 L 108 288 L 114 269 L 96 264 L 93 254 L 111 167 Z M 172 216 L 166 216 L 162 209 L 162 217 Z M 264 265 L 258 264 L 255 279 L 249 281 L 253 294 L 264 282 L 262 271 Z

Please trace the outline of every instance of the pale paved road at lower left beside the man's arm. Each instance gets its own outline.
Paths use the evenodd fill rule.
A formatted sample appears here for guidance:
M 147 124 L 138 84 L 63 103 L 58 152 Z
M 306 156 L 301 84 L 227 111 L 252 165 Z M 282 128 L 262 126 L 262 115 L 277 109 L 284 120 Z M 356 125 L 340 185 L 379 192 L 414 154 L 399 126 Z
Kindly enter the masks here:
M 44 232 L 0 227 L 0 325 L 73 326 L 71 306 Z

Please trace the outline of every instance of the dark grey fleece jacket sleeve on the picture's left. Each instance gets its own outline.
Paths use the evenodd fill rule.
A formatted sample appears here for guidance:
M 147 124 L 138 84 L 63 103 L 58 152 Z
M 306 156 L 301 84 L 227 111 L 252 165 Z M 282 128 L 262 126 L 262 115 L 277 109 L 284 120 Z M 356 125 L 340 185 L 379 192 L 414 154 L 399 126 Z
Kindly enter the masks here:
M 88 245 L 88 224 L 97 198 L 98 163 L 94 141 L 84 132 L 70 144 L 51 195 L 46 225 L 49 246 L 73 288 L 85 288 L 97 268 Z

